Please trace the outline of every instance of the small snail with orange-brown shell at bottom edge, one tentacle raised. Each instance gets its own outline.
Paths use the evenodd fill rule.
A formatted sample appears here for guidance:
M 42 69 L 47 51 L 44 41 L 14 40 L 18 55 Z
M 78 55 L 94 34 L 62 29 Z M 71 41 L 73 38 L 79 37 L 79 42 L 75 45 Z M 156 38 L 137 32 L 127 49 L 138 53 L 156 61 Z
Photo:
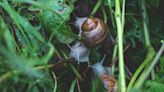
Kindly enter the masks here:
M 105 67 L 102 65 L 103 61 L 105 60 L 105 56 L 106 55 L 104 55 L 101 62 L 98 62 L 90 67 L 93 69 L 94 73 L 101 79 L 107 92 L 117 92 L 117 81 L 114 79 L 113 76 L 108 74 Z

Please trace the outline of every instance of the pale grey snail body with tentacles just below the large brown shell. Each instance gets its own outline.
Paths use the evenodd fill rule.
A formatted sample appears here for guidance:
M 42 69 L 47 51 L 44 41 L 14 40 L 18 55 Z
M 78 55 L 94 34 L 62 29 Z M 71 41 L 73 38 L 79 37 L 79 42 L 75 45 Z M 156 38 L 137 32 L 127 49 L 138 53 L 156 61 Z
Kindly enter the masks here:
M 68 45 L 68 47 L 71 50 L 70 56 L 75 58 L 78 64 L 80 62 L 89 62 L 90 49 L 86 48 L 82 42 L 76 41 L 75 44 L 72 46 Z

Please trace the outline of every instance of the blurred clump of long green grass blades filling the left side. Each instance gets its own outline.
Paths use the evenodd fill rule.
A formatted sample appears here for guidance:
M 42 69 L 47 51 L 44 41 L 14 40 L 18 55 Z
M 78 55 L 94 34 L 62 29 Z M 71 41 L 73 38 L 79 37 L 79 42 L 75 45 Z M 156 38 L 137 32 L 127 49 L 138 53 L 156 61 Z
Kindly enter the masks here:
M 44 77 L 48 78 L 49 74 L 38 70 L 40 67 L 36 66 L 43 65 L 41 69 L 46 68 L 46 64 L 54 52 L 53 46 L 50 43 L 44 43 L 43 36 L 26 18 L 19 15 L 7 1 L 0 2 L 0 6 L 4 8 L 12 19 L 12 25 L 17 27 L 15 32 L 21 43 L 19 45 L 20 43 L 15 40 L 15 32 L 12 33 L 9 30 L 10 23 L 5 23 L 0 17 L 0 91 L 22 92 L 26 89 L 26 92 L 31 92 L 32 90 L 36 92 L 40 90 L 39 86 L 46 87 L 48 81 L 48 87 L 51 88 L 53 85 L 51 78 L 43 79 Z M 45 44 L 46 54 L 38 58 L 39 44 L 41 43 Z M 20 84 L 21 87 L 16 89 Z

